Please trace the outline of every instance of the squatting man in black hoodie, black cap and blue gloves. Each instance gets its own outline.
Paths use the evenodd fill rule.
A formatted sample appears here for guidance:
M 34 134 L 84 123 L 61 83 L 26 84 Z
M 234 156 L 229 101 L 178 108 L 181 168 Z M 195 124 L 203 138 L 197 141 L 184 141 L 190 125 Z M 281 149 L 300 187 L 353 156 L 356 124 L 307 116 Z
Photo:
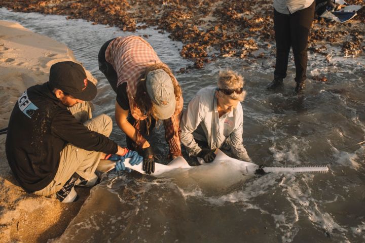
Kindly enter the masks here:
M 15 104 L 9 120 L 6 154 L 14 177 L 27 192 L 56 194 L 62 203 L 76 200 L 75 185 L 93 186 L 100 158 L 117 154 L 116 170 L 141 163 L 135 151 L 110 140 L 112 119 L 91 118 L 89 102 L 96 86 L 75 62 L 51 66 L 49 82 L 28 88 Z M 110 157 L 110 156 L 108 156 Z

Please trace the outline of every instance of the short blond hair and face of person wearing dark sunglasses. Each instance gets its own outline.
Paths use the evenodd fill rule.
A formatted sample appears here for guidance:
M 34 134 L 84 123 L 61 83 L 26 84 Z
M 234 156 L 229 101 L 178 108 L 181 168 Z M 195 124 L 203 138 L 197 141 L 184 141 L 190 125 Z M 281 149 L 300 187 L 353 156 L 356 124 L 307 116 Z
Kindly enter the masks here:
M 244 86 L 243 77 L 239 75 L 237 72 L 226 69 L 224 71 L 220 71 L 218 75 L 217 87 L 218 89 L 237 89 L 242 88 Z M 233 92 L 229 97 L 234 100 L 243 101 L 246 96 L 246 91 L 243 90 L 241 94 L 237 94 Z

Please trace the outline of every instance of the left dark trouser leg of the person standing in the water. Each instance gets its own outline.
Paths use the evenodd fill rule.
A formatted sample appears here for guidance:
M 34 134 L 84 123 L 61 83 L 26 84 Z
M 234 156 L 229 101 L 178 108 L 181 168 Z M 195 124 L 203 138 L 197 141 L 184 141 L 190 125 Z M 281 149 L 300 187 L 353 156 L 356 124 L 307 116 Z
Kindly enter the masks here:
M 274 31 L 276 43 L 276 63 L 274 75 L 279 78 L 285 78 L 291 45 L 288 14 L 281 14 L 274 10 Z

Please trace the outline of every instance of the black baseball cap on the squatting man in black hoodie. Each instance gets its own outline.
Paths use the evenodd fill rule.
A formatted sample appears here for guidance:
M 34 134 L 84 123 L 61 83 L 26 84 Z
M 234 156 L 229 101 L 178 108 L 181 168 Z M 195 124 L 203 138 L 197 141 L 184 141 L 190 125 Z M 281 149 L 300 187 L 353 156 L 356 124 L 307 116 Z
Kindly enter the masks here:
M 96 86 L 86 78 L 84 68 L 71 61 L 57 62 L 51 66 L 49 84 L 84 101 L 94 99 L 97 93 Z

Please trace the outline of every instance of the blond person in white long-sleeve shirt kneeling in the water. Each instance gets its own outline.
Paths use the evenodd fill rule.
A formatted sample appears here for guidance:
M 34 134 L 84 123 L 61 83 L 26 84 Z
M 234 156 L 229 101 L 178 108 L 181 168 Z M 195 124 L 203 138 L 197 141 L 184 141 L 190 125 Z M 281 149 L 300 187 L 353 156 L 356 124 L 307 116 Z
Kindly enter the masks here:
M 243 78 L 232 70 L 221 71 L 216 87 L 198 91 L 180 121 L 181 142 L 190 156 L 210 163 L 214 150 L 232 150 L 234 156 L 251 161 L 243 146 Z

